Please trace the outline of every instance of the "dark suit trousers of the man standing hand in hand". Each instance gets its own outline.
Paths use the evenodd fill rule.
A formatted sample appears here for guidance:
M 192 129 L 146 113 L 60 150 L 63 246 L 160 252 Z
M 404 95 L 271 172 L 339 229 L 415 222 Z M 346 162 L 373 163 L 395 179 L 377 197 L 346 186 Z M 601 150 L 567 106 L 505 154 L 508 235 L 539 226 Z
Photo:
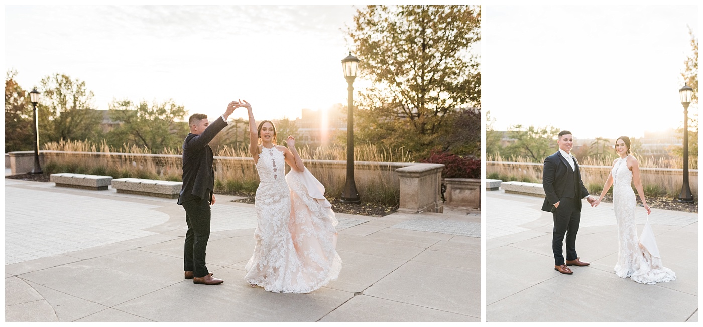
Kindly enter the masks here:
M 554 264 L 564 265 L 563 242 L 566 234 L 567 260 L 576 260 L 576 233 L 579 232 L 579 222 L 581 222 L 581 211 L 576 210 L 576 201 L 562 197 L 558 208 L 552 208 L 554 216 L 554 231 L 552 236 L 552 251 L 554 251 Z

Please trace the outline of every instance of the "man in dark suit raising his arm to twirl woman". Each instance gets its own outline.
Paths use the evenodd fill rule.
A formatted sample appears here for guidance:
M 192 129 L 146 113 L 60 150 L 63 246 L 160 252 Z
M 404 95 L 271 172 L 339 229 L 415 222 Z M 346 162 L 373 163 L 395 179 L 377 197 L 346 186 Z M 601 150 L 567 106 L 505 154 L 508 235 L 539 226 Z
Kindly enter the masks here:
M 186 209 L 186 246 L 183 255 L 183 270 L 186 279 L 193 283 L 217 285 L 223 280 L 214 278 L 205 267 L 205 248 L 210 236 L 210 206 L 215 203 L 214 170 L 212 149 L 207 145 L 212 138 L 227 126 L 229 115 L 239 103 L 232 101 L 222 116 L 212 125 L 205 114 L 193 114 L 188 119 L 191 133 L 183 142 L 183 186 L 178 204 Z

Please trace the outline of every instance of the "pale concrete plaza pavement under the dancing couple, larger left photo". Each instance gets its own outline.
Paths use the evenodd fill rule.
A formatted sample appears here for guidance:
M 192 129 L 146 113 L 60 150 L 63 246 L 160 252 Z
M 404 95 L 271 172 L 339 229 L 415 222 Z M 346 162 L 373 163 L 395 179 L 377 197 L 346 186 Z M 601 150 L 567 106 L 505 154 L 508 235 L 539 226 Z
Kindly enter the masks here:
M 217 196 L 208 268 L 183 279 L 174 199 L 5 183 L 6 321 L 480 321 L 480 215 L 337 214 L 339 279 L 309 294 L 243 281 L 253 205 Z

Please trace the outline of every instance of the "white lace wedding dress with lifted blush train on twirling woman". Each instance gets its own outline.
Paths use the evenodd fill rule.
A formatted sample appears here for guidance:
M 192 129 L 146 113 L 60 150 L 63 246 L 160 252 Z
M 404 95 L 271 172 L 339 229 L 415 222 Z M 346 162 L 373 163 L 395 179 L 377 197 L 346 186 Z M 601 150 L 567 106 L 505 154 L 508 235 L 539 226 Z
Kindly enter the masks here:
M 283 152 L 275 147 L 262 148 L 256 167 L 256 245 L 245 281 L 274 293 L 309 293 L 337 279 L 337 220 L 322 184 L 307 168 L 283 175 Z

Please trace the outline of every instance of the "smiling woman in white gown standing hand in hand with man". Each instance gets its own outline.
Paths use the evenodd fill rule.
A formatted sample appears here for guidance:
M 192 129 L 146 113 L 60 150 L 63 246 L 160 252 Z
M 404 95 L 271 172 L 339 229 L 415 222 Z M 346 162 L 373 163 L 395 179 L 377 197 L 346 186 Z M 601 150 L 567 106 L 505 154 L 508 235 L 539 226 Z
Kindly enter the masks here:
M 661 283 L 676 279 L 671 269 L 662 266 L 662 259 L 658 253 L 651 253 L 647 247 L 640 243 L 637 237 L 637 224 L 635 219 L 635 192 L 630 186 L 634 182 L 637 193 L 650 214 L 645 194 L 640 180 L 640 168 L 634 156 L 630 155 L 630 138 L 623 136 L 615 141 L 615 151 L 620 155 L 613 162 L 613 167 L 605 180 L 603 190 L 593 206 L 598 206 L 605 193 L 613 185 L 613 208 L 618 227 L 618 254 L 615 264 L 615 274 L 621 278 L 630 277 L 638 283 Z M 651 247 L 656 248 L 656 246 Z M 656 252 L 656 251 L 655 251 Z

